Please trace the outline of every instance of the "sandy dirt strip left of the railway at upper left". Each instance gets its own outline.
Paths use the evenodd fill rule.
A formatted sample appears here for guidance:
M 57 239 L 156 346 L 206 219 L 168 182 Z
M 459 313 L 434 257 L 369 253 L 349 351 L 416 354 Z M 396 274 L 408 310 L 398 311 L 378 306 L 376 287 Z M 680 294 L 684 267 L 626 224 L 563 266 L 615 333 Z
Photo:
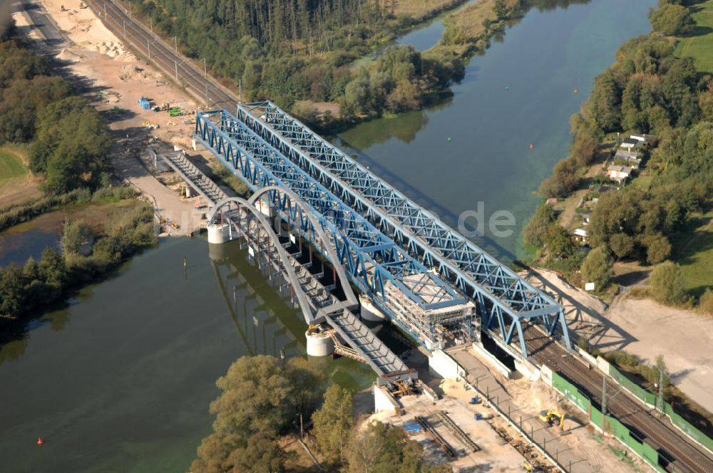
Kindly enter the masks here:
M 180 118 L 143 110 L 139 98 L 195 110 L 193 100 L 136 58 L 91 9 L 79 8 L 78 0 L 24 0 L 16 4 L 13 17 L 21 33 L 64 65 L 70 80 L 86 90 L 98 110 L 125 110 L 107 114 L 116 139 L 111 160 L 118 177 L 149 197 L 162 219 L 178 225 L 178 229 L 168 227 L 170 234 L 185 235 L 197 229 L 200 212 L 194 204 L 198 198 L 180 197 L 177 189 L 159 182 L 138 160 L 150 138 L 188 147 L 193 131 L 193 126 Z M 160 128 L 148 130 L 144 122 Z

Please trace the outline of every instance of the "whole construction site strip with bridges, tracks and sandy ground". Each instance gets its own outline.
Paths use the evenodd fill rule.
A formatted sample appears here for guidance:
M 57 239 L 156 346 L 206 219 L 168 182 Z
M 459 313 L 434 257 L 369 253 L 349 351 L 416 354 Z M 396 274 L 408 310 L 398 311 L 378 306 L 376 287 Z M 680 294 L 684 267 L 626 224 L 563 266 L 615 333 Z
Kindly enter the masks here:
M 672 411 L 659 415 L 652 397 L 622 391 L 608 364 L 570 344 L 563 308 L 544 291 L 405 197 L 399 208 L 374 204 L 369 189 L 402 196 L 274 104 L 238 103 L 160 39 L 141 50 L 145 26 L 124 26 L 130 52 L 118 38 L 118 19 L 128 17 L 116 5 L 56 3 L 46 8 L 76 42 L 56 57 L 103 88 L 97 102 L 125 135 L 114 157 L 119 172 L 153 197 L 165 234 L 207 229 L 211 244 L 237 240 L 300 306 L 309 355 L 374 369 L 375 412 L 365 422 L 403 427 L 429 461 L 455 472 L 713 471 L 709 449 L 674 425 Z M 104 23 L 95 16 L 101 9 Z M 89 21 L 91 31 L 78 26 Z M 97 41 L 97 33 L 107 37 Z M 190 93 L 175 86 L 172 69 Z M 344 184 L 323 155 L 364 188 Z M 257 198 L 227 202 L 236 193 L 208 175 L 222 167 Z M 314 222 L 297 222 L 298 207 Z M 406 222 L 416 212 L 436 237 Z M 280 230 L 271 234 L 262 220 Z M 451 246 L 438 246 L 446 240 Z M 408 360 L 370 330 L 384 322 L 416 343 Z

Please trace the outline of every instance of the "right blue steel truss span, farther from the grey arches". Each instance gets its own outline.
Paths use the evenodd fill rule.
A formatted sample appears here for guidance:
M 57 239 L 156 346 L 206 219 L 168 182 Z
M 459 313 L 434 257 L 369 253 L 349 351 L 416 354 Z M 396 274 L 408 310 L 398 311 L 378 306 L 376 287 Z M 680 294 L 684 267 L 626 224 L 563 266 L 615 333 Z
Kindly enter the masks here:
M 563 312 L 555 301 L 298 120 L 270 102 L 239 105 L 238 118 L 423 264 L 438 269 L 444 279 L 457 284 L 473 299 L 483 301 L 484 296 L 491 308 L 497 306 L 518 327 L 521 313 L 544 310 L 540 318 L 546 326 L 549 324 L 545 315 L 561 317 L 563 337 L 570 347 Z M 503 340 L 506 338 L 507 333 L 503 333 Z M 526 356 L 524 348 L 523 355 Z

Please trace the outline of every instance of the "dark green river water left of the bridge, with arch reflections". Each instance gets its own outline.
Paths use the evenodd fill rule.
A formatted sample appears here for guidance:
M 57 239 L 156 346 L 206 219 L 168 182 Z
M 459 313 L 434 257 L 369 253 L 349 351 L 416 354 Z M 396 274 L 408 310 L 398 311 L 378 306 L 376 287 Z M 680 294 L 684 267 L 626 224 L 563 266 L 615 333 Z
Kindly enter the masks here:
M 1 348 L 1 471 L 185 472 L 230 363 L 304 354 L 289 294 L 220 249 L 212 261 L 204 239 L 164 240 Z M 374 378 L 346 358 L 314 363 L 347 387 Z

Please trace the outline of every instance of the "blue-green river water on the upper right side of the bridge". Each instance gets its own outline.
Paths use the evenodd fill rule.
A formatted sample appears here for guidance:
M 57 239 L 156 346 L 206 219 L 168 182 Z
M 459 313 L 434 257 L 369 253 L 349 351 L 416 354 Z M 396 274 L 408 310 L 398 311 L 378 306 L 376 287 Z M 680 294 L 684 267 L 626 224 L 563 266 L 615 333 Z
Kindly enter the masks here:
M 594 0 L 531 9 L 501 42 L 473 58 L 446 103 L 362 123 L 337 142 L 453 227 L 481 202 L 485 237 L 474 239 L 501 259 L 523 256 L 520 234 L 540 202 L 533 192 L 568 153 L 570 116 L 617 48 L 650 29 L 647 10 L 655 3 Z M 440 34 L 440 28 L 427 28 Z M 417 33 L 410 34 L 422 48 Z M 498 210 L 515 217 L 508 237 L 488 229 L 487 219 Z M 466 223 L 472 229 L 476 218 Z

